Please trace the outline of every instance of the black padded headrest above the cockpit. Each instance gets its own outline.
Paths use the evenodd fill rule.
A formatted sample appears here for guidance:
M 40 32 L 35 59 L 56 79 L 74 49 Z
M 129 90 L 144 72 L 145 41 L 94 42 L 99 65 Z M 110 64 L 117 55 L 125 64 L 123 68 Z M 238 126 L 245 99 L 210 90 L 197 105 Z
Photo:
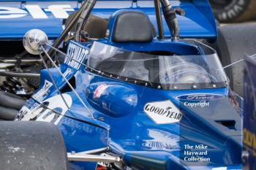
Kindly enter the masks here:
M 124 11 L 116 16 L 113 42 L 152 42 L 152 24 L 143 12 Z

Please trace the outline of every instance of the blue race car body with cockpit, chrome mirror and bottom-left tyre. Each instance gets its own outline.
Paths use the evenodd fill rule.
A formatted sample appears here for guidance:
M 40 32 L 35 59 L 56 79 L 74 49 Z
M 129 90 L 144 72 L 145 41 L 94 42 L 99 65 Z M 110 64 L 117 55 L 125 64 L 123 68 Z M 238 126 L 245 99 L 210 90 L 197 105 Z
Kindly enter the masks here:
M 217 52 L 192 34 L 184 39 L 176 17 L 206 19 L 208 2 L 187 2 L 187 10 L 154 2 L 159 36 L 139 9 L 95 17 L 86 28 L 105 34 L 89 36 L 95 0 L 53 45 L 42 31 L 26 33 L 24 47 L 45 69 L 17 121 L 0 123 L 1 169 L 242 169 L 242 105 Z

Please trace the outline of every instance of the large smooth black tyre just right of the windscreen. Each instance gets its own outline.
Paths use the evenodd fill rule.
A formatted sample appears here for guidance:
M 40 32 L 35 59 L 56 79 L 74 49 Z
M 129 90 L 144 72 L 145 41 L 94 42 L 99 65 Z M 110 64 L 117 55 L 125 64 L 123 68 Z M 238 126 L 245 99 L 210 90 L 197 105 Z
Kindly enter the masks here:
M 214 44 L 223 66 L 256 54 L 256 24 L 236 24 L 218 28 L 219 37 Z M 243 96 L 244 62 L 225 69 L 231 88 Z

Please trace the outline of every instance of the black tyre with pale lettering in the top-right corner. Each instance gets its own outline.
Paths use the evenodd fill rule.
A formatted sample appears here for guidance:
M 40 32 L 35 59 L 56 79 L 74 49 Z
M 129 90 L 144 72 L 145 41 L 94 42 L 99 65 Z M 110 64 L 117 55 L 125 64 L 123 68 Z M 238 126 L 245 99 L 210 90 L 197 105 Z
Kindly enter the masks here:
M 209 0 L 217 20 L 222 23 L 241 22 L 256 15 L 255 0 Z

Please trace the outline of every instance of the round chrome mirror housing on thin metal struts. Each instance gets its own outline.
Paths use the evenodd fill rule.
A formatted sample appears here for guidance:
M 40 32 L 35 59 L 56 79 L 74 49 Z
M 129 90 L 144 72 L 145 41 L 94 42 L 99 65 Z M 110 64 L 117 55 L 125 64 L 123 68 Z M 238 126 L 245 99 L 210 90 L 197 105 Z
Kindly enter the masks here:
M 33 55 L 42 53 L 42 47 L 46 48 L 47 44 L 48 36 L 42 30 L 31 29 L 23 36 L 23 46 Z

